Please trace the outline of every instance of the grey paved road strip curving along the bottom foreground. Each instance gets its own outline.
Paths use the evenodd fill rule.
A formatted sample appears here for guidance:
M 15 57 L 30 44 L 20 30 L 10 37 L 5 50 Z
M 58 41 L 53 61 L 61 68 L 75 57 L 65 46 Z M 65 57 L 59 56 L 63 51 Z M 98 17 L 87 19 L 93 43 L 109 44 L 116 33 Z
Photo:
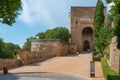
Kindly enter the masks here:
M 36 73 L 0 75 L 0 80 L 87 80 L 70 75 Z

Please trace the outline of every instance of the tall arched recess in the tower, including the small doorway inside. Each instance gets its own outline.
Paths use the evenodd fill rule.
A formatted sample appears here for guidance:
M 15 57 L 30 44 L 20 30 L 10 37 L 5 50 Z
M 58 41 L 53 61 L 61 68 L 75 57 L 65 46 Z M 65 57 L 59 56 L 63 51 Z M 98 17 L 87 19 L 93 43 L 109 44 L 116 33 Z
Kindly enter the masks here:
M 88 49 L 92 51 L 93 49 L 93 29 L 91 27 L 85 27 L 82 30 L 82 42 L 83 42 L 83 51 Z

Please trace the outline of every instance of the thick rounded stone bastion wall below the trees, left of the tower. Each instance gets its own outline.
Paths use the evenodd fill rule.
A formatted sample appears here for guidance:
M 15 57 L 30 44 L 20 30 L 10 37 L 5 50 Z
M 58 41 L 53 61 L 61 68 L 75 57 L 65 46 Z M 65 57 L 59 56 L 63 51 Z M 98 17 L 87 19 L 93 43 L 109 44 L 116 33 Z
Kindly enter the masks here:
M 31 43 L 31 51 L 61 56 L 64 55 L 65 52 L 69 51 L 69 45 L 58 39 L 36 39 Z

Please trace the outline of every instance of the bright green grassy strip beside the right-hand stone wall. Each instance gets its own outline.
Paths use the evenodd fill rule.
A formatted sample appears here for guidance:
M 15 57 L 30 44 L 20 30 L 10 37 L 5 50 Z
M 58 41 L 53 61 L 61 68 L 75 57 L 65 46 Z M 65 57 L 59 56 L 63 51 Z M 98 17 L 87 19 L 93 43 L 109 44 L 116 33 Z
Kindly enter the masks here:
M 102 58 L 101 64 L 105 80 L 120 80 L 118 74 L 109 67 L 106 59 Z

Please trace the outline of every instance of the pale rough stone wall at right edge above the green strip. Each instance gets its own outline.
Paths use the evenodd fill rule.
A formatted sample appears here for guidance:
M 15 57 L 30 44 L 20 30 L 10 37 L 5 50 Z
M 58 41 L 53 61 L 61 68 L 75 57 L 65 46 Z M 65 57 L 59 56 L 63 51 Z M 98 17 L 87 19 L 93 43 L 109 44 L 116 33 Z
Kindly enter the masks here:
M 112 38 L 110 44 L 110 67 L 119 73 L 120 70 L 120 50 L 116 47 L 116 37 Z

